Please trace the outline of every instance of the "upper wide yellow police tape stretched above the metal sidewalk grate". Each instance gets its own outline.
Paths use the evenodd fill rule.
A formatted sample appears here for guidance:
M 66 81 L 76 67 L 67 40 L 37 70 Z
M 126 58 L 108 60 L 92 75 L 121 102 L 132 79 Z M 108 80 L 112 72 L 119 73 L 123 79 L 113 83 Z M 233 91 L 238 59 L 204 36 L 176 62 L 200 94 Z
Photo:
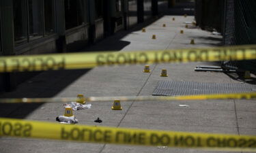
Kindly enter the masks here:
M 256 46 L 2 56 L 0 57 L 0 72 L 87 69 L 104 65 L 239 61 L 253 59 L 256 59 Z

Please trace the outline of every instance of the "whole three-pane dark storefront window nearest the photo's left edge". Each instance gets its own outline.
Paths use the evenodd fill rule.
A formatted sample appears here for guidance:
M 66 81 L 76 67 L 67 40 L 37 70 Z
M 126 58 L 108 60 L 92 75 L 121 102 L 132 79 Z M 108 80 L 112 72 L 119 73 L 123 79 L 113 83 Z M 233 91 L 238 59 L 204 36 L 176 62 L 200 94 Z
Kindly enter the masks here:
M 13 1 L 16 46 L 55 33 L 55 0 Z

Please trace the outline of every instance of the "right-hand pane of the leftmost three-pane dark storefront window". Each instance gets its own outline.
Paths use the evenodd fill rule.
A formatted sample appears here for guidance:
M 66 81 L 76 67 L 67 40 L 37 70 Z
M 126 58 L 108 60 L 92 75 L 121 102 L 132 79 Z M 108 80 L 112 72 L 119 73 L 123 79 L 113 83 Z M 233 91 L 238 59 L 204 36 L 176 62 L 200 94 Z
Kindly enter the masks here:
M 45 35 L 55 33 L 55 1 L 44 0 L 44 29 Z

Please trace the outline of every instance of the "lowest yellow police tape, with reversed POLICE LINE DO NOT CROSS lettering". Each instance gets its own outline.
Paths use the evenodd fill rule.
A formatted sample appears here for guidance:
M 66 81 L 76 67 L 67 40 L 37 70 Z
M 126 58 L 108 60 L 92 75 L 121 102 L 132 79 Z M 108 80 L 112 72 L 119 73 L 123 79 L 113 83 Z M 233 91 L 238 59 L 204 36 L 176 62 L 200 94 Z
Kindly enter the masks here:
M 256 136 L 153 131 L 0 118 L 0 136 L 140 146 L 256 151 Z

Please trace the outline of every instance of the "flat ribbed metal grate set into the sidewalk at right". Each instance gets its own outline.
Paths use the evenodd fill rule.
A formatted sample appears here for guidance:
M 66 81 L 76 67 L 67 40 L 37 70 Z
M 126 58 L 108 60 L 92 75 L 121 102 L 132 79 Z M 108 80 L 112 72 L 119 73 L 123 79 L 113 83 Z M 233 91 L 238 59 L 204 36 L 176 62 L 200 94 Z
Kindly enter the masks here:
M 255 85 L 160 81 L 152 95 L 207 95 L 256 91 Z

